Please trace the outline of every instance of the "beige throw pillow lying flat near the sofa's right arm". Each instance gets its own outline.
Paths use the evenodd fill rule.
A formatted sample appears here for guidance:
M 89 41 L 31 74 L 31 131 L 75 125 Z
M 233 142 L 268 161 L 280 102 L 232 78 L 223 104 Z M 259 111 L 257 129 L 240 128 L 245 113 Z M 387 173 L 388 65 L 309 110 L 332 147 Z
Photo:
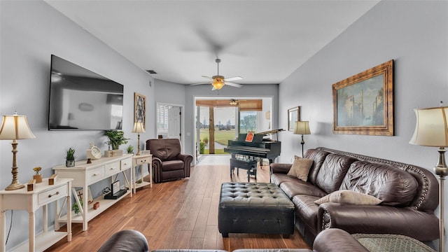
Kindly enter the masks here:
M 377 197 L 372 195 L 366 195 L 364 193 L 358 193 L 352 190 L 337 190 L 325 195 L 314 203 L 322 204 L 325 202 L 357 204 L 357 205 L 377 205 L 382 202 Z

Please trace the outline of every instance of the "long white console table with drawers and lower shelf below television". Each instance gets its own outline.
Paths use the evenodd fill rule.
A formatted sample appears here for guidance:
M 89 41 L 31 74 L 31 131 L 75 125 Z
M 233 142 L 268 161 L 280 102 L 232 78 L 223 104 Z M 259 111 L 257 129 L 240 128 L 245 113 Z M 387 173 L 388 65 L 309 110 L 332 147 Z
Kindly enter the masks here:
M 80 215 L 75 215 L 72 213 L 71 222 L 72 223 L 83 223 L 83 231 L 87 230 L 87 222 L 95 218 L 103 211 L 116 204 L 119 200 L 123 199 L 126 195 L 132 197 L 132 172 L 130 172 L 130 180 L 127 179 L 126 172 L 132 167 L 132 154 L 125 154 L 120 157 L 110 157 L 110 158 L 100 158 L 98 160 L 92 160 L 91 164 L 87 164 L 87 160 L 76 161 L 75 167 L 66 167 L 65 165 L 59 165 L 53 167 L 55 174 L 58 174 L 59 178 L 71 178 L 73 179 L 72 191 L 73 195 L 76 195 L 75 188 L 83 188 L 83 208 L 80 209 Z M 103 195 L 93 199 L 92 204 L 88 204 L 88 186 L 93 183 L 102 181 L 103 179 L 108 179 L 112 183 L 112 177 L 123 173 L 125 176 L 125 188 L 126 186 L 130 189 L 123 196 L 119 197 L 117 200 L 104 200 Z M 80 202 L 78 197 L 75 197 L 78 206 Z M 99 208 L 93 209 L 95 202 L 99 202 Z M 65 216 L 62 216 L 59 221 L 64 221 Z

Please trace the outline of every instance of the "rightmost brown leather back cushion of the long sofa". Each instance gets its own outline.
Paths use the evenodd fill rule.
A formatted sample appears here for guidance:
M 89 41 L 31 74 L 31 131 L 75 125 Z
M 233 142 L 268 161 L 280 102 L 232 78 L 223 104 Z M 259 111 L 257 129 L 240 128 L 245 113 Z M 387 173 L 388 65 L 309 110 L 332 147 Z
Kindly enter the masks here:
M 379 198 L 388 206 L 407 206 L 416 194 L 418 184 L 414 176 L 391 165 L 365 161 L 351 164 L 341 190 L 354 190 Z

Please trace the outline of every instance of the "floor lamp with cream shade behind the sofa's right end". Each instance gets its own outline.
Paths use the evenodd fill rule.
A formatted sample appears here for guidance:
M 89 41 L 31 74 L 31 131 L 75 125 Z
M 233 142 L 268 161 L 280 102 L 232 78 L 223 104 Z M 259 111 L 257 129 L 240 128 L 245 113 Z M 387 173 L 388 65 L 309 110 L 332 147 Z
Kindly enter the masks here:
M 409 144 L 419 146 L 438 147 L 439 160 L 434 167 L 434 172 L 439 176 L 439 232 L 440 251 L 444 251 L 444 218 L 443 218 L 443 183 L 448 175 L 448 167 L 445 164 L 445 147 L 448 147 L 448 107 L 436 107 L 428 109 L 414 109 L 416 125 L 414 136 Z

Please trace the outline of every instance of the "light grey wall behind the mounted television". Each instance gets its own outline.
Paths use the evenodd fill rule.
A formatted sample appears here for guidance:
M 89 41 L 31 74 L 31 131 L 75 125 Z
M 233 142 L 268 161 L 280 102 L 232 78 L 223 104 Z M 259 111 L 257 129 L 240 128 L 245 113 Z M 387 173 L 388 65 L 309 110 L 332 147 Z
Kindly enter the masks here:
M 123 131 L 130 138 L 127 145 L 137 145 L 137 134 L 131 133 L 134 123 L 134 92 L 154 101 L 153 78 L 117 52 L 75 25 L 43 1 L 0 1 L 0 113 L 18 111 L 28 118 L 36 139 L 20 141 L 18 145 L 19 181 L 27 183 L 34 174 L 32 168 L 43 167 L 43 177 L 53 174 L 51 167 L 64 163 L 67 148 L 76 149 L 76 160 L 86 158 L 90 141 L 106 150 L 102 131 L 48 131 L 48 94 L 50 89 L 50 55 L 67 59 L 86 69 L 106 76 L 125 86 Z M 148 126 L 155 128 L 155 105 L 146 111 Z M 92 118 L 94 120 L 94 118 Z M 154 137 L 151 131 L 141 139 Z M 10 141 L 0 141 L 0 188 L 11 182 L 12 154 Z M 103 183 L 103 186 L 107 183 Z M 102 186 L 99 186 L 102 187 Z M 97 189 L 95 192 L 94 189 Z M 102 188 L 92 188 L 92 194 Z M 41 211 L 36 215 L 36 227 L 41 227 Z M 52 211 L 50 222 L 54 221 Z M 10 223 L 10 211 L 6 212 Z M 51 223 L 50 223 L 51 224 Z M 7 248 L 28 238 L 28 214 L 15 211 L 13 228 Z M 25 232 L 24 232 L 25 231 Z

